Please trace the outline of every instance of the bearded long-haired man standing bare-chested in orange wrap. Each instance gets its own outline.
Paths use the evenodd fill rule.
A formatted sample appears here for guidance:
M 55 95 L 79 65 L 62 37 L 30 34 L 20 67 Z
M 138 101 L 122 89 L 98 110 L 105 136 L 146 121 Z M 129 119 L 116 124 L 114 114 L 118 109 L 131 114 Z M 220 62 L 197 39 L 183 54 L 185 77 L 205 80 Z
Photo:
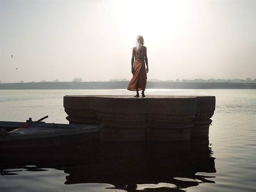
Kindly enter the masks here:
M 132 79 L 128 84 L 127 89 L 130 91 L 136 91 L 137 94 L 134 97 L 139 97 L 139 91 L 142 90 L 142 97 L 145 97 L 144 91 L 147 83 L 148 73 L 148 60 L 147 60 L 147 48 L 144 45 L 144 39 L 141 35 L 138 35 L 136 46 L 132 49 Z M 134 61 L 135 59 L 135 61 Z M 145 63 L 147 68 L 145 68 Z

